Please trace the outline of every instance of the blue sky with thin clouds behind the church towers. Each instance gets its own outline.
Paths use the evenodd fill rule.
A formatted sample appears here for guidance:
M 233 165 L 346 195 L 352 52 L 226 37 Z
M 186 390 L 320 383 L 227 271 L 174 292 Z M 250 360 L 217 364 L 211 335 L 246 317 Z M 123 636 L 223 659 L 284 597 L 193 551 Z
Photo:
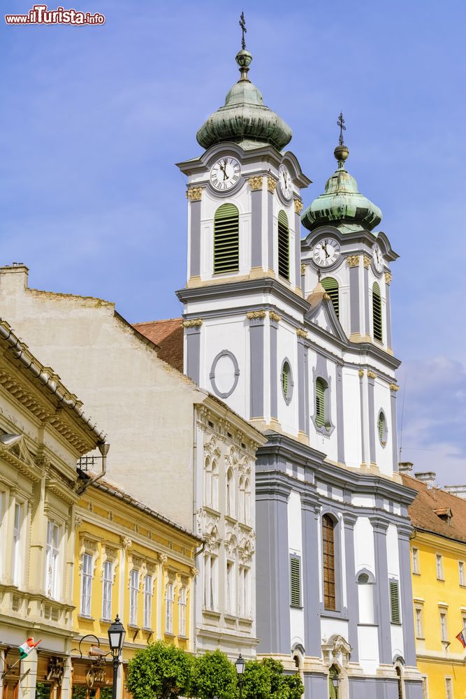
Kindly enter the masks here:
M 115 301 L 131 322 L 180 315 L 187 212 L 174 163 L 201 152 L 196 131 L 237 80 L 244 9 L 249 75 L 314 182 L 305 204 L 334 169 L 342 109 L 348 169 L 401 256 L 403 459 L 466 482 L 464 0 L 71 6 L 106 22 L 0 25 L 1 264 L 27 264 L 33 287 Z

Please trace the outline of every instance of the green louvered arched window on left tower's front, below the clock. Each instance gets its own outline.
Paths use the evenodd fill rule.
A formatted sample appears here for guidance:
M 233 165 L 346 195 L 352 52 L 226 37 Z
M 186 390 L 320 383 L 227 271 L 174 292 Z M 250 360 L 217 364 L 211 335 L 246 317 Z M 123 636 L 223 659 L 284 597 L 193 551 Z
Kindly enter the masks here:
M 222 204 L 214 216 L 214 274 L 240 268 L 240 213 L 234 204 Z

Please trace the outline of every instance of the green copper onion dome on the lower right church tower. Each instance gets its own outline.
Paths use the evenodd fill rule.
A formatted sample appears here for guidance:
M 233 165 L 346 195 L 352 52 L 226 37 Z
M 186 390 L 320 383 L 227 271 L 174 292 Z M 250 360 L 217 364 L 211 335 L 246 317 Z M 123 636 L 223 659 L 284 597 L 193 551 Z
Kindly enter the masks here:
M 349 150 L 343 143 L 342 135 L 334 155 L 338 168 L 328 178 L 325 192 L 314 199 L 301 215 L 303 226 L 310 231 L 325 224 L 336 226 L 342 233 L 361 229 L 372 231 L 381 222 L 382 212 L 358 192 L 356 180 L 345 169 L 344 161 L 349 156 Z

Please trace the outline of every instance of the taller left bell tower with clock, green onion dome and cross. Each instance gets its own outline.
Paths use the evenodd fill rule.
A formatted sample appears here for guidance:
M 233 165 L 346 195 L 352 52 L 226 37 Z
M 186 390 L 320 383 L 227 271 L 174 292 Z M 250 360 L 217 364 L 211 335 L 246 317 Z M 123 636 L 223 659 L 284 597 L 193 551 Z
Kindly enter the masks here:
M 283 417 L 282 354 L 287 390 L 296 382 L 298 391 L 296 327 L 280 320 L 284 308 L 295 324 L 303 319 L 300 190 L 310 180 L 284 152 L 290 127 L 249 78 L 252 55 L 240 24 L 238 82 L 197 132 L 203 154 L 178 164 L 187 175 L 188 269 L 177 294 L 184 303 L 185 373 L 246 419 L 276 426 Z M 297 434 L 295 405 L 286 430 Z

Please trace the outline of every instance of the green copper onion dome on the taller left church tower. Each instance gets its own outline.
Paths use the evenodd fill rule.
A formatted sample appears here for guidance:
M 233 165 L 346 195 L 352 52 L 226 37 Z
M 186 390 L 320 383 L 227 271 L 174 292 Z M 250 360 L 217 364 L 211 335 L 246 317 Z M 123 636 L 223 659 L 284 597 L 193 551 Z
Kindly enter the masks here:
M 263 103 L 261 91 L 247 77 L 252 55 L 242 48 L 236 55 L 240 80 L 226 95 L 225 104 L 210 115 L 196 138 L 208 148 L 230 140 L 242 147 L 254 148 L 270 143 L 277 150 L 289 143 L 293 131 L 275 112 Z

